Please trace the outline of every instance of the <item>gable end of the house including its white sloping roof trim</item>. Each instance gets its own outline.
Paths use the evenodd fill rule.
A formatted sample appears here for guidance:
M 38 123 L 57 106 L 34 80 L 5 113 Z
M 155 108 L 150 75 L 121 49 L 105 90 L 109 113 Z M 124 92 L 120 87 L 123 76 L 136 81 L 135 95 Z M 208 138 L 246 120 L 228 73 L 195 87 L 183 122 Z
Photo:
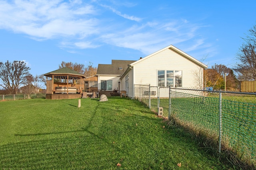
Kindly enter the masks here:
M 202 75 L 199 74 L 202 73 L 202 69 L 204 68 L 207 68 L 205 64 L 170 45 L 131 63 L 130 67 L 127 68 L 120 79 L 124 79 L 125 76 L 132 73 L 133 80 L 130 86 L 134 84 L 158 86 L 158 70 L 164 71 L 164 74 L 166 74 L 167 71 L 172 71 L 174 76 L 176 72 L 177 74 L 181 72 L 182 87 L 198 87 L 196 76 L 202 78 Z M 176 85 L 175 82 L 174 85 Z

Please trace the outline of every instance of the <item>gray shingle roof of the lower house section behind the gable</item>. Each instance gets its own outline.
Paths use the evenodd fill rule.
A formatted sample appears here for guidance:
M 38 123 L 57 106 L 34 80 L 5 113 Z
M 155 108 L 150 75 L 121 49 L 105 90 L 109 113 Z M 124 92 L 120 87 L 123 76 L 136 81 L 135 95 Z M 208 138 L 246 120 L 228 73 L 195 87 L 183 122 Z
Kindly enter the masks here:
M 98 64 L 97 75 L 122 75 L 128 64 L 134 62 L 132 60 L 112 60 L 112 64 Z

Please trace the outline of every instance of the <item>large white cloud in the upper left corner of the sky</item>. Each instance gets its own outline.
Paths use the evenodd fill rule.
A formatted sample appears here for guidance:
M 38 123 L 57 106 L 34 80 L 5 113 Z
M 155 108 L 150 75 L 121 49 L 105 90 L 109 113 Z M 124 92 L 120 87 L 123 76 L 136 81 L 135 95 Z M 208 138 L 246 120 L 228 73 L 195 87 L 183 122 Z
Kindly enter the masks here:
M 78 6 L 79 5 L 79 6 Z M 96 33 L 98 20 L 88 18 L 94 14 L 93 6 L 75 0 L 0 1 L 0 28 L 24 33 L 36 38 L 52 39 Z

